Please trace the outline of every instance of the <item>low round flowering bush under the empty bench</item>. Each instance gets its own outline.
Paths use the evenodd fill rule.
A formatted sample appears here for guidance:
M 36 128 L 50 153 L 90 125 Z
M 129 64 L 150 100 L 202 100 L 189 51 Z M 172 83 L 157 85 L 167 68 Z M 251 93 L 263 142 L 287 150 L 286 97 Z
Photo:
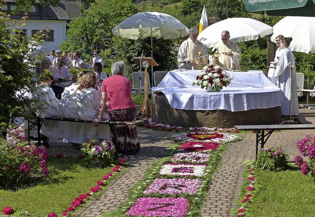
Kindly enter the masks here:
M 287 167 L 288 155 L 282 147 L 261 149 L 255 162 L 255 168 L 268 170 L 284 170 Z

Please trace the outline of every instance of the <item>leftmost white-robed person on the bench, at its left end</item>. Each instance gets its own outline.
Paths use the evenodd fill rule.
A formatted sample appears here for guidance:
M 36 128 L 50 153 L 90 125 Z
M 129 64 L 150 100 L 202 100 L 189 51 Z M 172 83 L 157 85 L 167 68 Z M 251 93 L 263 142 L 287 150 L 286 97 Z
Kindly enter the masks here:
M 57 107 L 59 100 L 56 98 L 53 89 L 49 86 L 53 81 L 53 76 L 49 71 L 45 71 L 40 76 L 40 85 L 35 92 L 35 97 L 38 97 L 39 102 L 36 106 L 38 110 L 35 112 L 37 116 L 56 117 L 58 116 Z M 63 124 L 60 121 L 44 120 L 40 128 L 40 133 L 43 134 L 43 145 L 49 147 L 49 138 L 60 140 L 63 138 Z

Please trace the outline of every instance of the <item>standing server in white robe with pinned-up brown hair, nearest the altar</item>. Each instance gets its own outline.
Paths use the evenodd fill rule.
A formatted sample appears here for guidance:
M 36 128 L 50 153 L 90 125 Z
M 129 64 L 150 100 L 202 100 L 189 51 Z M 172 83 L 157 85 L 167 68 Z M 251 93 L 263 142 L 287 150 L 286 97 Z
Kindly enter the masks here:
M 290 68 L 288 67 L 289 62 L 295 60 L 292 51 L 288 48 L 291 37 L 284 37 L 281 39 L 280 46 L 283 48 L 278 66 L 276 68 L 275 77 L 277 80 L 277 86 L 284 92 L 284 96 L 281 102 L 281 113 L 282 115 L 289 115 L 290 110 L 290 99 L 291 99 L 291 115 L 295 116 L 299 114 L 299 102 L 297 96 L 297 85 L 296 85 L 296 71 L 295 67 L 292 68 L 292 77 L 290 77 Z M 292 84 L 291 84 L 292 82 Z M 290 87 L 292 90 L 290 90 Z M 292 93 L 292 98 L 290 97 Z

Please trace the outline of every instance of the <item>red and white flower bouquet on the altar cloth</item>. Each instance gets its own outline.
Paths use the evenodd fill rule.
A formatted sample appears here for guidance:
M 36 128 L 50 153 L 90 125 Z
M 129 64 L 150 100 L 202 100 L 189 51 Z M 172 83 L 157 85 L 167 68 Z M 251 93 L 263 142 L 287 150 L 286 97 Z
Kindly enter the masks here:
M 228 86 L 231 80 L 230 75 L 221 66 L 210 63 L 202 68 L 192 85 L 201 86 L 202 89 L 205 88 L 207 91 L 220 91 L 223 87 Z

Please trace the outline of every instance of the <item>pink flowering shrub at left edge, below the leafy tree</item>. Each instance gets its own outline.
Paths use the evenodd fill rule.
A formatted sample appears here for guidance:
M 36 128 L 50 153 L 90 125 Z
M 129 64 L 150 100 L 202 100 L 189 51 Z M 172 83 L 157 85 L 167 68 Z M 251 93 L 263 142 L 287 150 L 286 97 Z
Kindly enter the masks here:
M 22 126 L 9 130 L 7 139 L 0 139 L 0 188 L 27 184 L 32 177 L 49 173 L 46 149 L 24 144 L 23 130 Z

